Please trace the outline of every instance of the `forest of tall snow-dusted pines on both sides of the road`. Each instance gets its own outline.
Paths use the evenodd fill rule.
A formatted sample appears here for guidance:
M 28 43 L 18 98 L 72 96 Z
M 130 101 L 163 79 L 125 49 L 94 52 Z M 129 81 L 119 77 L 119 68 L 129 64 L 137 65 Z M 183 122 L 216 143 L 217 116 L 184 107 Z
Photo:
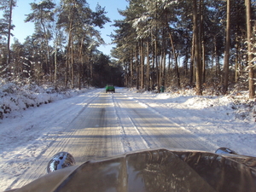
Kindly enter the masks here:
M 30 3 L 35 31 L 10 44 L 16 0 L 0 0 L 0 77 L 55 88 L 107 83 L 154 90 L 195 89 L 201 96 L 247 90 L 255 96 L 255 0 L 127 0 L 110 34 L 111 55 L 97 49 L 105 8 L 86 0 Z

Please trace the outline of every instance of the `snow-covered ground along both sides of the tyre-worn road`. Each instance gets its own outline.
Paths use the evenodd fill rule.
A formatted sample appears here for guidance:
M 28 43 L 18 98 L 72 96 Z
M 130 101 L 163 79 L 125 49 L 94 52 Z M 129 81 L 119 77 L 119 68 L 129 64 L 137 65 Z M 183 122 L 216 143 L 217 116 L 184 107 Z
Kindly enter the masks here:
M 119 90 L 119 94 L 170 119 L 212 148 L 228 147 L 256 156 L 255 102 L 245 94 L 195 96 L 192 90 L 160 94 Z M 19 88 L 4 84 L 0 89 L 0 191 L 17 183 L 32 160 L 49 158 L 42 156 L 42 151 L 63 134 L 83 110 L 83 103 L 90 103 L 102 91 L 60 92 L 36 85 Z

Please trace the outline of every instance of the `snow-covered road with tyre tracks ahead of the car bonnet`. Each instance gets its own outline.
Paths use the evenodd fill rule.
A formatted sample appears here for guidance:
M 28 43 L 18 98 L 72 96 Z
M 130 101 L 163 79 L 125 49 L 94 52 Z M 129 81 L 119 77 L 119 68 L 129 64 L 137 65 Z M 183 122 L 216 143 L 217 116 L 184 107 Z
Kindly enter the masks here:
M 43 176 L 49 159 L 61 151 L 73 154 L 79 165 L 86 160 L 143 148 L 213 152 L 219 144 L 225 144 L 226 140 L 218 143 L 198 131 L 203 127 L 201 124 L 205 124 L 201 112 L 197 116 L 198 111 L 192 113 L 194 120 L 189 119 L 188 124 L 191 113 L 182 113 L 170 106 L 172 102 L 152 102 L 154 96 L 140 96 L 135 98 L 135 94 L 124 89 L 117 89 L 114 94 L 102 89 L 90 90 L 40 108 L 29 108 L 15 119 L 3 119 L 0 191 L 19 188 Z M 182 118 L 187 120 L 182 122 Z M 189 129 L 196 126 L 196 121 L 197 129 Z M 218 122 L 218 128 L 221 123 Z M 212 125 L 209 119 L 207 125 Z M 212 127 L 212 131 L 216 131 Z M 251 137 L 255 136 L 255 132 L 249 132 Z M 253 143 L 253 139 L 250 142 Z M 241 149 L 244 148 L 247 145 Z

